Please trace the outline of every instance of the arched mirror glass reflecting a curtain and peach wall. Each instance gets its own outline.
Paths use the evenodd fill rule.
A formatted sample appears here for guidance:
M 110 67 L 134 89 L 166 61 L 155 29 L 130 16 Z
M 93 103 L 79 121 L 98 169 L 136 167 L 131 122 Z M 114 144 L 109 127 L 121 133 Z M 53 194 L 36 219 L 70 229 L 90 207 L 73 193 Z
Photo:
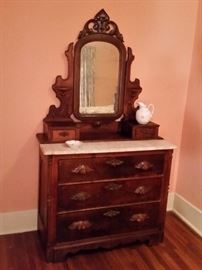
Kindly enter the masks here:
M 114 114 L 118 110 L 119 50 L 93 41 L 81 49 L 81 114 Z

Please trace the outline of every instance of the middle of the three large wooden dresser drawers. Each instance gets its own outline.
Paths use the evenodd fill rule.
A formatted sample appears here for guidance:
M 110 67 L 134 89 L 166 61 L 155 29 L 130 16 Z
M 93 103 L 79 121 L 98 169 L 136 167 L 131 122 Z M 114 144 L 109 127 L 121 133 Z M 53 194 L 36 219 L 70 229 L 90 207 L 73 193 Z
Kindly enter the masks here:
M 160 200 L 161 178 L 64 185 L 58 211 Z

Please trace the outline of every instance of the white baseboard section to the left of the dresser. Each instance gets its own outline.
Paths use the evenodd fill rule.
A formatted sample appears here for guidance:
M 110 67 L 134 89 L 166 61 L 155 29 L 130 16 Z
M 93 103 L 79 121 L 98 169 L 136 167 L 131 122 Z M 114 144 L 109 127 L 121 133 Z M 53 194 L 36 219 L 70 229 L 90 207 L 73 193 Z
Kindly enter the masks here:
M 0 213 L 0 235 L 37 229 L 37 210 Z

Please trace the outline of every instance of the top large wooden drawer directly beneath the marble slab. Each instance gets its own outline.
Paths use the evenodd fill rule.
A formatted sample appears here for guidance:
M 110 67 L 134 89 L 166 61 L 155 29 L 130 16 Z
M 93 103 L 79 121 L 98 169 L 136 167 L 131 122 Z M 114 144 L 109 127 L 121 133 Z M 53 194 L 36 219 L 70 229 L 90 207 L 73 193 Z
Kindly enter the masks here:
M 120 179 L 163 174 L 163 152 L 74 156 L 58 161 L 59 182 Z

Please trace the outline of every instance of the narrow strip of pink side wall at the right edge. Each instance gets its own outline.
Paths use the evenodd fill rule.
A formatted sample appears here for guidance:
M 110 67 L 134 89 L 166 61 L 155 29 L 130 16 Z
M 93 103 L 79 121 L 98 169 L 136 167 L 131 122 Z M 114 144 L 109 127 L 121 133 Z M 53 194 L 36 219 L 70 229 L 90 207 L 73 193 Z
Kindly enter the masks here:
M 202 5 L 200 6 L 202 8 Z M 202 11 L 202 10 L 200 10 Z M 201 13 L 202 14 L 202 13 Z M 182 141 L 177 193 L 202 209 L 202 17 L 198 11 L 192 54 Z

